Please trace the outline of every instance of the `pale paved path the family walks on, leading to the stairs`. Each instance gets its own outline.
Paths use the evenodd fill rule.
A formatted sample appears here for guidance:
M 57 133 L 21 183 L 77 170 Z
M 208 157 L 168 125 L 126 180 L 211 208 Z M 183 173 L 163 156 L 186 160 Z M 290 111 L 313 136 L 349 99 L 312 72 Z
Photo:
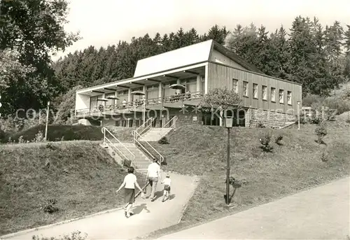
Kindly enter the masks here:
M 183 206 L 188 202 L 195 190 L 197 181 L 194 177 L 178 174 L 170 174 L 170 177 L 172 178 L 171 193 L 174 195 L 174 198 L 167 202 L 162 202 L 162 197 L 159 197 L 155 202 L 151 202 L 151 199 L 138 197 L 134 205 L 135 215 L 130 218 L 125 218 L 124 211 L 118 210 L 72 221 L 71 223 L 48 227 L 43 230 L 18 234 L 6 239 L 29 240 L 33 235 L 59 237 L 59 235 L 69 234 L 76 230 L 87 233 L 87 239 L 132 239 L 175 225 L 181 217 Z M 161 191 L 163 186 L 158 184 L 158 191 Z M 149 195 L 151 190 L 149 187 L 147 190 L 146 195 Z M 159 195 L 162 195 L 162 192 L 158 192 Z

